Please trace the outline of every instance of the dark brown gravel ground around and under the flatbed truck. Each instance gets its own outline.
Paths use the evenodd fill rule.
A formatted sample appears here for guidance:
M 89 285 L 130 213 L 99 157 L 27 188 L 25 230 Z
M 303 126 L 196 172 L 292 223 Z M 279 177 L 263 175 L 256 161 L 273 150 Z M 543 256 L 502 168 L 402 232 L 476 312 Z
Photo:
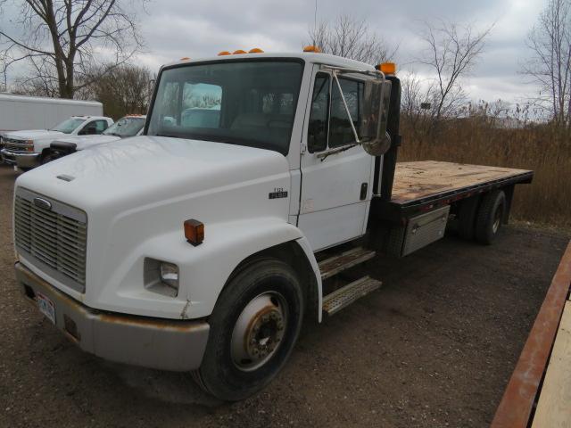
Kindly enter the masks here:
M 568 236 L 507 227 L 482 247 L 446 237 L 308 324 L 277 380 L 223 403 L 186 374 L 121 366 L 68 342 L 12 274 L 12 188 L 0 166 L 0 426 L 479 427 L 492 420 Z

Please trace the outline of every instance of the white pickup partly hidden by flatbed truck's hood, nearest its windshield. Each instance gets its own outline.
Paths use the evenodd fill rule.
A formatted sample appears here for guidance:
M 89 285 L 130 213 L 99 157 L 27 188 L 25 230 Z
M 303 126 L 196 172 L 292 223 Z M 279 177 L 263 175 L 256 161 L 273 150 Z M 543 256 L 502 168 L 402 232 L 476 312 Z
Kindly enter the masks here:
M 145 127 L 145 116 L 131 114 L 117 120 L 100 135 L 58 138 L 50 144 L 50 159 L 58 159 L 70 153 L 86 150 L 99 144 L 112 143 L 129 136 L 138 136 L 143 132 L 143 127 Z

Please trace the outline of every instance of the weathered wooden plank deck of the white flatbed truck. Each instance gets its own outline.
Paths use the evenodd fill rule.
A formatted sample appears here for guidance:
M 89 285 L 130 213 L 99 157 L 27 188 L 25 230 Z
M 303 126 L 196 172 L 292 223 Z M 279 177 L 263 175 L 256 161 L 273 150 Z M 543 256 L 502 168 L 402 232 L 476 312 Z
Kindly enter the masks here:
M 392 201 L 402 203 L 422 199 L 526 172 L 529 171 L 453 162 L 399 162 L 394 172 Z

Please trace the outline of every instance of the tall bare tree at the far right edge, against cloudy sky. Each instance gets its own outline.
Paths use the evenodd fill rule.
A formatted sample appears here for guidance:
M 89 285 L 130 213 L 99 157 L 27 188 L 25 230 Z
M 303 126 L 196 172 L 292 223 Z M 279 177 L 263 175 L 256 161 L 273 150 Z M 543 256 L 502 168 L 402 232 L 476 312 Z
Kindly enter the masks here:
M 527 37 L 524 73 L 542 87 L 536 100 L 559 125 L 571 126 L 571 0 L 550 0 Z

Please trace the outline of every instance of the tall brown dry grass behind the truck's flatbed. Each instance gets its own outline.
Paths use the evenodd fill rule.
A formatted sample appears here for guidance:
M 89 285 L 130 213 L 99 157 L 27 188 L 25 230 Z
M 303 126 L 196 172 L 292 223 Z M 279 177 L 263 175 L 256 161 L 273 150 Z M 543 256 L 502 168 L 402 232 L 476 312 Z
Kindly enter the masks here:
M 454 161 L 533 169 L 534 182 L 518 185 L 512 218 L 571 228 L 571 133 L 549 125 L 505 129 L 485 118 L 444 123 L 437 132 L 403 118 L 399 161 Z

